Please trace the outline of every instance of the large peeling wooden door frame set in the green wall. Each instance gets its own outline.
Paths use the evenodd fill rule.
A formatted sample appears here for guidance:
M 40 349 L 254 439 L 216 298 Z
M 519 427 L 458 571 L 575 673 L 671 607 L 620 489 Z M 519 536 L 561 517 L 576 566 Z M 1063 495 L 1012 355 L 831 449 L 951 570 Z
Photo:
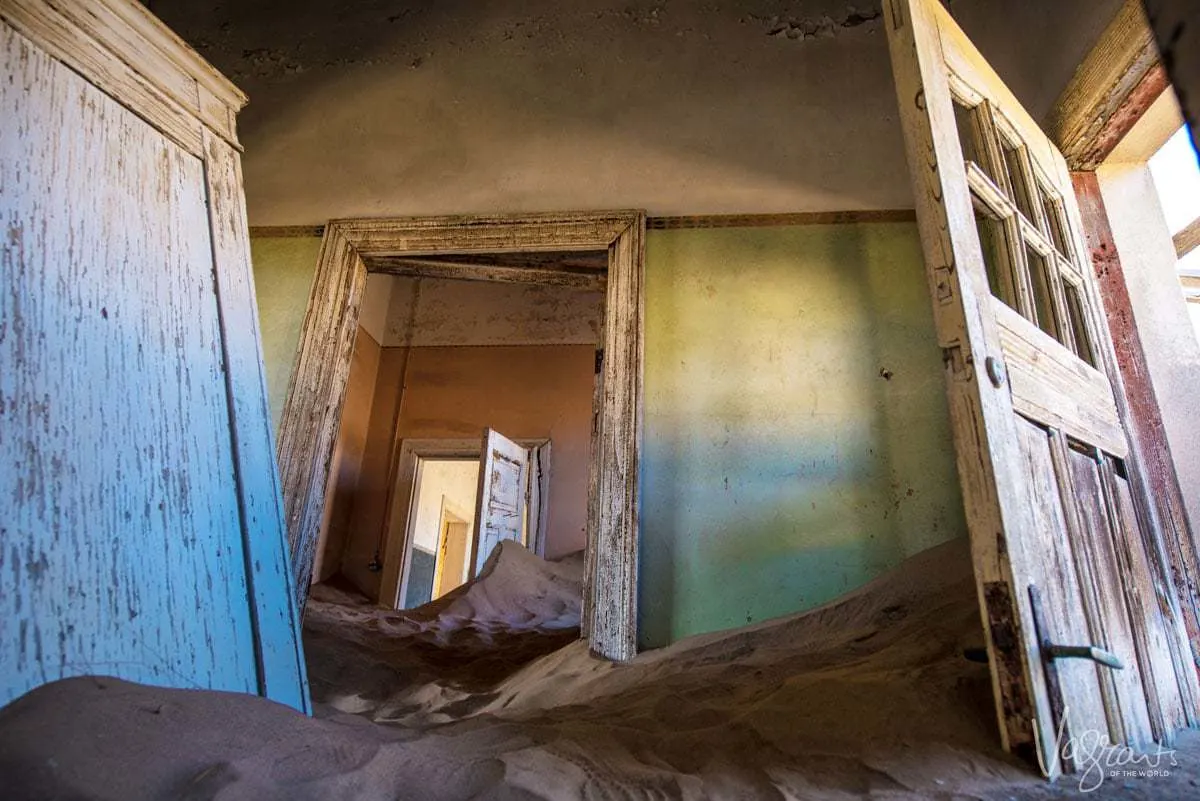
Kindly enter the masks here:
M 302 606 L 341 423 L 350 356 L 367 275 L 413 275 L 414 257 L 470 253 L 608 252 L 601 435 L 593 565 L 584 576 L 593 651 L 612 660 L 637 650 L 638 465 L 642 430 L 643 260 L 646 212 L 340 219 L 325 227 L 296 367 L 280 424 L 277 456 L 284 519 Z M 408 260 L 408 263 L 406 263 Z M 452 265 L 455 277 L 578 285 L 570 272 Z M 444 264 L 437 269 L 446 270 Z

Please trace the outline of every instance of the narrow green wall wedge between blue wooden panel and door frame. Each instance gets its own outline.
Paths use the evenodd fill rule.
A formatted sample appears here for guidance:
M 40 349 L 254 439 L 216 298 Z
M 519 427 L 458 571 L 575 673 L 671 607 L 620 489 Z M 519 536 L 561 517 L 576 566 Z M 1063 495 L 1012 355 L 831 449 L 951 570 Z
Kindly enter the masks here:
M 263 331 L 263 361 L 266 363 L 266 393 L 275 430 L 280 429 L 283 402 L 288 398 L 288 383 L 319 254 L 320 239 L 316 236 L 250 240 L 258 323 Z

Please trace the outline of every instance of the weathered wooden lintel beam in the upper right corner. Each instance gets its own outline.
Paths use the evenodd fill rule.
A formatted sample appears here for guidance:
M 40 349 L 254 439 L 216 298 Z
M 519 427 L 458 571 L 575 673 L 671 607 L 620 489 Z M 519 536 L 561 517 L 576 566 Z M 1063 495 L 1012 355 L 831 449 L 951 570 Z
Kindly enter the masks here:
M 1050 118 L 1049 133 L 1070 169 L 1096 169 L 1166 86 L 1141 0 L 1126 0 Z

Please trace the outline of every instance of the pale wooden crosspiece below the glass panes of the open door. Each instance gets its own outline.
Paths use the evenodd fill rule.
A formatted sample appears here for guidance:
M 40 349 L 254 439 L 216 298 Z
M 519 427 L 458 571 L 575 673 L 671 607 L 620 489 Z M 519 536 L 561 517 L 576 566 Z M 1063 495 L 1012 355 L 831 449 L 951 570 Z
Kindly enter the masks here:
M 1013 387 L 1013 408 L 1124 457 L 1124 428 L 1104 374 L 1002 301 L 991 301 Z

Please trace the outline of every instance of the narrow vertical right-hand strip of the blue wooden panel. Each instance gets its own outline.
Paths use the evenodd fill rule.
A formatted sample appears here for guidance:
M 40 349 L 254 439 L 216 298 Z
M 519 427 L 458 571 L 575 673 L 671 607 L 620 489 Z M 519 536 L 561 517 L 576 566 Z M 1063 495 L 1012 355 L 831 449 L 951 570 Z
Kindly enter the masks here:
M 205 181 L 258 691 L 310 711 L 288 562 L 238 152 L 205 134 Z

